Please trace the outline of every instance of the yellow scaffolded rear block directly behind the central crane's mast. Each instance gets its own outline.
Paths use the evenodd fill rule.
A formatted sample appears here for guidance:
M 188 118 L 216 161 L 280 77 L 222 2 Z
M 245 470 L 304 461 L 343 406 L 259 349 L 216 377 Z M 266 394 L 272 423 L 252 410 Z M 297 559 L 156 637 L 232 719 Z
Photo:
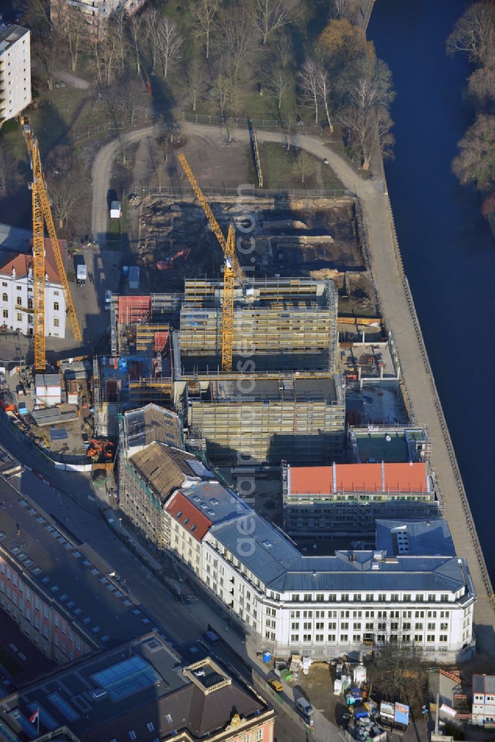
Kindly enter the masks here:
M 253 281 L 254 295 L 235 292 L 234 356 L 246 344 L 266 370 L 331 372 L 335 367 L 337 301 L 331 280 Z M 208 359 L 214 367 L 222 349 L 223 289 L 220 281 L 186 280 L 180 310 L 180 357 Z M 240 349 L 240 350 L 239 350 Z M 199 361 L 198 361 L 199 364 Z

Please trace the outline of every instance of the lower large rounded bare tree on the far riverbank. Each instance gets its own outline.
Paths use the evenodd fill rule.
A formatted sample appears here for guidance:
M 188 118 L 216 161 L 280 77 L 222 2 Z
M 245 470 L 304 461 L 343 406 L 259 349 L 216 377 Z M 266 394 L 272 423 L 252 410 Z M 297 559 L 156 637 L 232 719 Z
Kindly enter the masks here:
M 495 183 L 495 116 L 479 114 L 457 145 L 452 171 L 461 183 L 488 191 Z

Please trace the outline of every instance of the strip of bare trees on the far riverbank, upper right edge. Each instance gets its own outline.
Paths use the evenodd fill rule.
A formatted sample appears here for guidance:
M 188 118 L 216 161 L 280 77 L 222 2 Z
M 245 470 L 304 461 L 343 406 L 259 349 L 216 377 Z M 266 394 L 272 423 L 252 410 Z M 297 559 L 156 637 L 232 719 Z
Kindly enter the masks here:
M 452 162 L 461 183 L 473 183 L 483 195 L 482 211 L 495 234 L 495 4 L 479 0 L 469 5 L 447 39 L 447 53 L 462 52 L 475 66 L 468 94 L 476 118 L 459 142 Z

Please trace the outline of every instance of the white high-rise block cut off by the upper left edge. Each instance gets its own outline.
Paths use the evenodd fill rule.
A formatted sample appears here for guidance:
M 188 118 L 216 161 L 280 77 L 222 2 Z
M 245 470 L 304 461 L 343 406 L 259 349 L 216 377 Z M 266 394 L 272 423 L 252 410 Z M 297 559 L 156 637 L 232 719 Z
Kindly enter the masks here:
M 31 102 L 30 31 L 0 23 L 0 123 Z

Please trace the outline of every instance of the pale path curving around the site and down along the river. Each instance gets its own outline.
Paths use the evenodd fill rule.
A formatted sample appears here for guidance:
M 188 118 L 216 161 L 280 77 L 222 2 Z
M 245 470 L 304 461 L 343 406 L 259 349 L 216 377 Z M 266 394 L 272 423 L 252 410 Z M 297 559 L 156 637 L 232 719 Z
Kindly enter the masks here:
M 182 126 L 186 134 L 208 136 L 217 140 L 219 148 L 222 147 L 220 130 L 216 126 L 189 122 L 183 122 Z M 153 127 L 148 126 L 139 131 L 131 131 L 122 139 L 125 142 L 137 142 L 151 134 Z M 280 132 L 258 130 L 257 134 L 259 142 L 282 141 Z M 236 137 L 247 142 L 249 132 L 237 130 Z M 325 146 L 321 139 L 308 136 L 299 136 L 295 139 L 296 146 L 321 159 L 327 157 L 345 188 L 355 191 L 361 201 L 381 308 L 399 350 L 416 421 L 427 425 L 432 439 L 431 463 L 442 487 L 445 518 L 448 520 L 456 554 L 467 560 L 479 598 L 474 608 L 477 648 L 495 656 L 495 611 L 492 605 L 491 583 L 436 393 L 413 300 L 407 279 L 404 278 L 390 201 L 387 194 L 377 190 L 372 181 L 364 181 L 357 177 L 350 165 Z M 104 240 L 107 229 L 107 191 L 118 148 L 118 140 L 105 145 L 97 154 L 93 165 L 92 232 L 94 237 L 100 240 L 102 247 L 104 245 L 101 240 Z

